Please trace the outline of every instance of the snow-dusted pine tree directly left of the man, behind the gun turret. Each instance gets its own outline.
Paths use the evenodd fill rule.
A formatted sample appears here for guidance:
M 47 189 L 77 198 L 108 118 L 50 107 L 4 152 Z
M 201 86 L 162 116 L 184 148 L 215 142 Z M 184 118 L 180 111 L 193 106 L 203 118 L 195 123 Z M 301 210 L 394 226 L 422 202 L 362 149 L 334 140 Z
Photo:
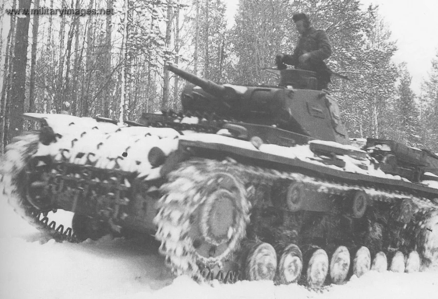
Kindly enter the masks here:
M 234 82 L 266 83 L 269 77 L 263 69 L 272 66 L 275 54 L 292 51 L 292 47 L 288 47 L 289 37 L 292 34 L 295 39 L 297 35 L 288 20 L 289 11 L 290 4 L 280 0 L 239 1 L 236 24 L 230 36 L 233 55 L 228 62 Z

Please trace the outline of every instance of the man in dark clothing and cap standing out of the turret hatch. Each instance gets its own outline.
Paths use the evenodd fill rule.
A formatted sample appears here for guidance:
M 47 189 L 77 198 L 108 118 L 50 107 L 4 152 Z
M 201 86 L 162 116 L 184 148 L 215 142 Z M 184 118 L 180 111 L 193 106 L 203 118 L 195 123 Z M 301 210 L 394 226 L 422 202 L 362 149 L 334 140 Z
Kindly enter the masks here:
M 275 64 L 279 70 L 287 68 L 285 64 L 296 69 L 316 72 L 318 88 L 327 88 L 330 82 L 331 71 L 324 59 L 331 55 L 331 44 L 324 30 L 315 29 L 310 24 L 308 16 L 304 13 L 294 14 L 292 19 L 301 35 L 293 54 L 277 54 Z

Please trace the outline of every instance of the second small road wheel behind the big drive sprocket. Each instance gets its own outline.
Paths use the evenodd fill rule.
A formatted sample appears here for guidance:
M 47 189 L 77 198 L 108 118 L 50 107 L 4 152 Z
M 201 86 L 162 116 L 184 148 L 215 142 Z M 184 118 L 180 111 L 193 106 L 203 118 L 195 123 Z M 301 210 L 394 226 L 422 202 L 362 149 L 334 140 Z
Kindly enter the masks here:
M 282 284 L 297 282 L 303 270 L 303 254 L 298 246 L 290 244 L 281 254 L 278 263 L 278 279 Z

